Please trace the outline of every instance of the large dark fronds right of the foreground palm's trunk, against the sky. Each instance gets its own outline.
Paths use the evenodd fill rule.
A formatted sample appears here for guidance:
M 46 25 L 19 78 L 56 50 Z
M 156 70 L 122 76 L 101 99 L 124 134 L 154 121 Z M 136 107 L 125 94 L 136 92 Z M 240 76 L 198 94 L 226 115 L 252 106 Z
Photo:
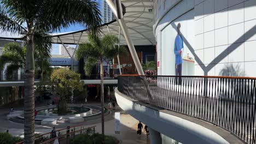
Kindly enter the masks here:
M 71 7 L 72 5 L 72 7 Z M 75 22 L 85 25 L 89 32 L 96 34 L 100 32 L 100 11 L 97 3 L 90 0 L 52 0 L 40 4 L 36 27 L 48 31 L 67 28 Z

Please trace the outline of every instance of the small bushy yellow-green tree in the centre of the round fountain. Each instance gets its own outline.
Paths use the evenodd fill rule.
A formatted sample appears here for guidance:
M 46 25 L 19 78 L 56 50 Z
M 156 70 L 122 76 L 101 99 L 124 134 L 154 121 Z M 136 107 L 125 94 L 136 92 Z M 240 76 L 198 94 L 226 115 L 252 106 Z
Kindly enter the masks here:
M 51 81 L 56 86 L 57 92 L 60 93 L 58 112 L 66 113 L 68 108 L 66 98 L 71 96 L 71 101 L 73 101 L 73 94 L 70 93 L 73 93 L 74 89 L 83 91 L 84 82 L 80 81 L 80 74 L 67 68 L 53 70 Z

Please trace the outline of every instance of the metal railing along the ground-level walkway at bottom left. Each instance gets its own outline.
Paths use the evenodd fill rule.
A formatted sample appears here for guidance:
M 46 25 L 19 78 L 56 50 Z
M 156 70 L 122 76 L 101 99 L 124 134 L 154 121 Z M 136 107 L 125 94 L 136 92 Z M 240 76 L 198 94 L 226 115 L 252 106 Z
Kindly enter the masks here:
M 67 138 L 72 138 L 78 134 L 95 134 L 95 127 L 85 127 L 83 125 L 74 125 L 72 127 L 67 127 L 63 129 L 56 130 L 56 137 L 52 137 L 51 132 L 45 133 L 42 135 L 38 135 L 34 137 L 35 143 L 52 143 L 55 139 L 58 140 L 67 140 Z M 18 142 L 16 144 L 22 144 L 23 141 Z

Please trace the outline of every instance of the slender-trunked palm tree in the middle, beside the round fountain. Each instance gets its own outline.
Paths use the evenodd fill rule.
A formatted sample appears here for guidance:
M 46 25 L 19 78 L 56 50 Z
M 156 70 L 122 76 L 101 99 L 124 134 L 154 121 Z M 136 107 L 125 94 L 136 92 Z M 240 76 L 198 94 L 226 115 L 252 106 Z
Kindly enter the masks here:
M 86 75 L 90 75 L 92 68 L 97 64 L 101 64 L 101 124 L 102 135 L 104 135 L 104 81 L 103 81 L 103 62 L 106 59 L 111 59 L 115 55 L 113 49 L 115 44 L 118 43 L 118 37 L 107 34 L 102 39 L 98 37 L 92 38 L 89 35 L 89 43 L 80 44 L 75 57 L 79 60 L 86 58 L 84 64 L 84 71 Z

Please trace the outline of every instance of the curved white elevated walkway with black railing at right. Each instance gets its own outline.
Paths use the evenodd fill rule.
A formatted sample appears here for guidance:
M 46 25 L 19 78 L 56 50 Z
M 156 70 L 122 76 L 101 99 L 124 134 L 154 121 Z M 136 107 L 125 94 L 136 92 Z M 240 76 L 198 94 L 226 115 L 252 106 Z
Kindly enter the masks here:
M 119 76 L 118 105 L 147 124 L 152 143 L 255 143 L 256 79 Z

